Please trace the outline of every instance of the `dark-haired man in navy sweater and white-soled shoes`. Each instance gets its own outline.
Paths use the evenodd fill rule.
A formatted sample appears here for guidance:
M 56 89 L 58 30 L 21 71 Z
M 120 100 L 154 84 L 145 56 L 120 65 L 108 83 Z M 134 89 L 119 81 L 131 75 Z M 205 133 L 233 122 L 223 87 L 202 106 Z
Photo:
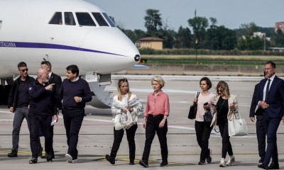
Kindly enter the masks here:
M 62 115 L 67 136 L 68 152 L 65 154 L 67 162 L 77 161 L 78 135 L 84 118 L 86 102 L 92 101 L 89 84 L 79 76 L 77 65 L 66 68 L 66 77 L 58 92 L 58 101 L 62 101 Z M 60 106 L 60 104 L 58 104 Z

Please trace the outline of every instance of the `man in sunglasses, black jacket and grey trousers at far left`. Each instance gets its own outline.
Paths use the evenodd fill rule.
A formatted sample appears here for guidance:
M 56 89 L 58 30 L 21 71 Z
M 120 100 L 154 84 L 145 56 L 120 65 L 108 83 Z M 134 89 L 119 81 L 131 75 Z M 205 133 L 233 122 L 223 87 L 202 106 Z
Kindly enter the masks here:
M 13 82 L 8 99 L 8 108 L 14 113 L 12 132 L 13 147 L 8 157 L 18 157 L 18 140 L 23 118 L 26 118 L 29 128 L 28 105 L 30 98 L 28 97 L 28 84 L 35 81 L 33 77 L 28 76 L 28 66 L 25 62 L 18 63 L 18 72 L 20 73 L 20 77 Z

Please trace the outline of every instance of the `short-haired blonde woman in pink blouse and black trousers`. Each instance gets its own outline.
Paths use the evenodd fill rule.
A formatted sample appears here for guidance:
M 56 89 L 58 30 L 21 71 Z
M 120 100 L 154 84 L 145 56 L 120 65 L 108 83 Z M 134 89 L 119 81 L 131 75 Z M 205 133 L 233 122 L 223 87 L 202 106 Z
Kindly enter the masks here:
M 165 81 L 160 76 L 155 76 L 151 79 L 153 93 L 148 95 L 146 112 L 144 113 L 143 128 L 146 129 L 145 147 L 141 161 L 139 164 L 148 167 L 148 158 L 151 150 L 151 145 L 157 132 L 160 142 L 160 152 L 162 155 L 162 162 L 160 166 L 168 165 L 168 145 L 167 132 L 168 122 L 167 118 L 170 113 L 170 103 L 168 94 L 162 91 L 165 86 Z

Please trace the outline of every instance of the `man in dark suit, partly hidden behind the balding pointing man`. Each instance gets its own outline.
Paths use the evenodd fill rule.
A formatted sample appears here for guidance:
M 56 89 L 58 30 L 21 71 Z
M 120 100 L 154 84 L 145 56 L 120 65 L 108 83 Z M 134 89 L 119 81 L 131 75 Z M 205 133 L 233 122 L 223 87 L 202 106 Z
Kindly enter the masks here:
M 40 63 L 40 68 L 42 69 L 46 69 L 48 71 L 48 74 L 49 74 L 49 79 L 48 79 L 48 84 L 55 84 L 54 85 L 54 90 L 55 90 L 55 96 L 58 95 L 58 91 L 60 89 L 60 86 L 62 84 L 62 79 L 60 76 L 58 76 L 58 74 L 54 74 L 52 71 L 51 71 L 51 63 L 48 62 L 48 61 L 43 61 Z M 57 103 L 60 103 L 60 102 L 57 102 Z M 59 111 L 59 108 L 60 106 L 58 106 L 58 111 Z M 50 128 L 50 132 L 51 132 L 51 136 L 53 138 L 53 126 L 51 126 Z M 52 140 L 53 142 L 53 140 Z M 53 151 L 53 145 L 51 145 L 51 152 L 50 152 L 52 158 L 54 159 L 55 158 L 55 155 L 54 155 L 54 151 Z M 45 158 L 45 157 L 43 157 Z

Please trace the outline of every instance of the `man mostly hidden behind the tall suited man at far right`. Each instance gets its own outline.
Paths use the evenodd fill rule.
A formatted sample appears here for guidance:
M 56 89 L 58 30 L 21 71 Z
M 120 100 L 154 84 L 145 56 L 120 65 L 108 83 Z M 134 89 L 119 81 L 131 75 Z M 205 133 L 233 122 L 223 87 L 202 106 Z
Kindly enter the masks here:
M 266 79 L 266 72 L 263 72 L 263 76 Z M 256 115 L 256 137 L 258 140 L 258 155 L 259 157 L 261 157 L 261 159 L 259 159 L 258 163 L 263 163 L 264 161 L 264 157 L 266 156 L 266 130 L 264 129 L 263 126 L 263 115 L 262 115 L 262 109 L 259 108 L 256 111 L 256 106 L 258 101 L 256 100 L 256 94 L 258 91 L 258 84 L 256 84 L 256 86 L 254 87 L 254 91 L 253 91 L 253 98 L 251 99 L 251 108 L 249 111 L 249 118 L 251 119 L 251 122 L 254 122 L 255 117 L 254 115 Z

